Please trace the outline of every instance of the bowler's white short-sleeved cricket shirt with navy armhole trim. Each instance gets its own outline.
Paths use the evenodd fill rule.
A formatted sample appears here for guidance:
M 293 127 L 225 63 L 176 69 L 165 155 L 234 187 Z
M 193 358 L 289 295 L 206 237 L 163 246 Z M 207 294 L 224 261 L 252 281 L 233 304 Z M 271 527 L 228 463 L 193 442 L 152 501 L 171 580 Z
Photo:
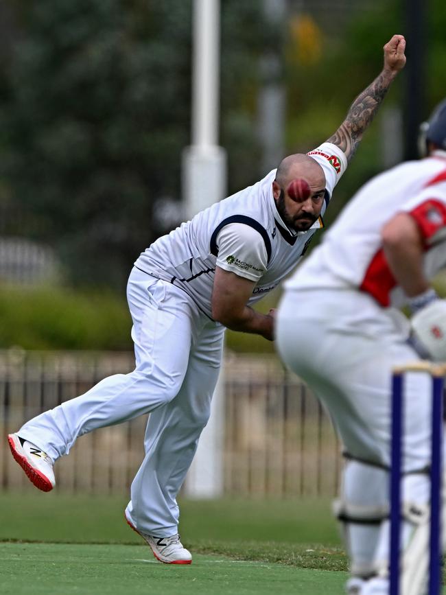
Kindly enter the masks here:
M 174 283 L 211 318 L 215 266 L 255 281 L 253 304 L 274 289 L 296 266 L 322 224 L 333 188 L 347 168 L 344 153 L 323 143 L 308 153 L 325 173 L 326 196 L 320 218 L 308 231 L 287 229 L 276 209 L 272 170 L 255 185 L 215 203 L 191 221 L 160 237 L 134 265 Z

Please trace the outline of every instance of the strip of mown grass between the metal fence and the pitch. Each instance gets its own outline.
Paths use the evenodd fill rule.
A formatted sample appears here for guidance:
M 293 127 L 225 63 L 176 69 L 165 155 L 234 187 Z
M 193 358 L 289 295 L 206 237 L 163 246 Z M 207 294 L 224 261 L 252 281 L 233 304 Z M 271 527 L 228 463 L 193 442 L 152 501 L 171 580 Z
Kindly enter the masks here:
M 0 494 L 0 541 L 137 544 L 124 521 L 126 504 L 126 498 L 43 493 L 30 485 L 23 493 Z M 180 500 L 180 513 L 180 533 L 194 546 L 340 544 L 329 500 Z

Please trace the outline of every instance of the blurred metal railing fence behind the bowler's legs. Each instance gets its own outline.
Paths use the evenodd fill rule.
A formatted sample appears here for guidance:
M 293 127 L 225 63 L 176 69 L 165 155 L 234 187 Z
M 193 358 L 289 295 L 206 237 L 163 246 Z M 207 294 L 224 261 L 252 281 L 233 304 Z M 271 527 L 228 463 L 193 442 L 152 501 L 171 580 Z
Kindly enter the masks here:
M 0 351 L 0 469 L 3 489 L 34 489 L 5 436 L 24 421 L 126 373 L 132 353 Z M 318 401 L 277 358 L 226 354 L 224 491 L 227 495 L 333 495 L 340 448 Z M 56 465 L 58 488 L 126 493 L 143 458 L 146 416 L 82 436 Z

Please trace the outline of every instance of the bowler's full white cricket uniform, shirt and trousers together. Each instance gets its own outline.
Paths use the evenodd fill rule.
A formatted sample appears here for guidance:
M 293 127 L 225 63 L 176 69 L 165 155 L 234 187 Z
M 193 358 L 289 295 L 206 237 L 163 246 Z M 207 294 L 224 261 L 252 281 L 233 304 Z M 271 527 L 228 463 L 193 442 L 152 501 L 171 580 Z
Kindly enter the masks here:
M 143 533 L 178 532 L 176 495 L 209 418 L 224 334 L 211 313 L 215 267 L 255 281 L 252 305 L 296 266 L 323 225 L 333 187 L 347 167 L 344 153 L 331 143 L 309 155 L 326 178 L 325 204 L 311 229 L 290 231 L 281 220 L 273 170 L 156 240 L 134 263 L 128 281 L 136 369 L 102 380 L 17 432 L 56 460 L 78 436 L 150 412 L 145 458 L 127 509 Z

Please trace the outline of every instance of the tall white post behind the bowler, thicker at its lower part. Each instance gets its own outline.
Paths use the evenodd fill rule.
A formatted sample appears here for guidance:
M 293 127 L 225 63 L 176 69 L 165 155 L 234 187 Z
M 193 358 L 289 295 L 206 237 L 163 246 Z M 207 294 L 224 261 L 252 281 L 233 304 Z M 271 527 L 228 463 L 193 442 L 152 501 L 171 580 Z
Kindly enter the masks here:
M 226 196 L 226 152 L 218 146 L 220 0 L 193 2 L 193 92 L 191 146 L 183 152 L 183 196 L 190 219 Z M 189 498 L 223 491 L 223 375 L 213 395 L 212 415 L 202 432 L 185 482 Z

